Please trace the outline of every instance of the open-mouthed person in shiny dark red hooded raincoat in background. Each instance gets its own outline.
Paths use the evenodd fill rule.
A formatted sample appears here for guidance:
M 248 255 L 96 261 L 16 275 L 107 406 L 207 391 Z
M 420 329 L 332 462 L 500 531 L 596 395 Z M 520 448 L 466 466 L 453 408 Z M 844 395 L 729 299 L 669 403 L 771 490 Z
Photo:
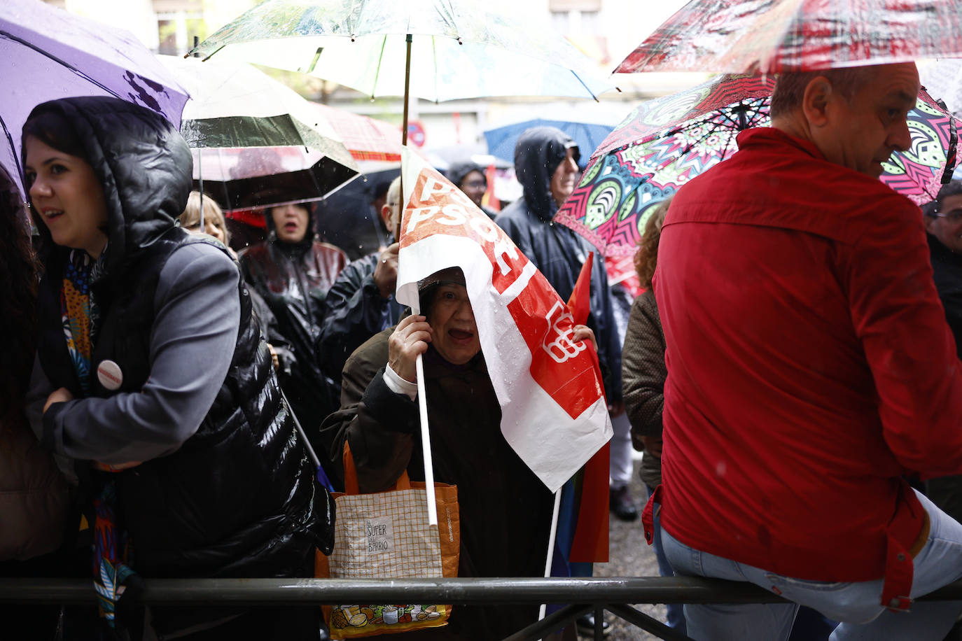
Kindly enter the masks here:
M 266 210 L 267 239 L 240 255 L 244 280 L 274 312 L 290 349 L 278 352 L 281 386 L 308 433 L 338 407 L 336 385 L 324 377 L 315 344 L 324 320 L 324 299 L 347 255 L 316 239 L 314 209 L 292 204 Z

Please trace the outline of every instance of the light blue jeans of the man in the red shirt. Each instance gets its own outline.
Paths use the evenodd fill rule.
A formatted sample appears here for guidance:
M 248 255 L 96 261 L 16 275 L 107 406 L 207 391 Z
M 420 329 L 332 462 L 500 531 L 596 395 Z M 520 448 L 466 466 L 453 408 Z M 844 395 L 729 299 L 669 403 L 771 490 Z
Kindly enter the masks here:
M 911 597 L 916 599 L 962 577 L 962 525 L 923 495 L 928 512 L 928 540 L 915 557 Z M 817 524 L 812 524 L 813 535 Z M 675 574 L 744 580 L 781 594 L 794 604 L 685 604 L 688 635 L 696 641 L 784 641 L 798 605 L 808 605 L 829 619 L 842 621 L 832 641 L 942 641 L 962 612 L 962 602 L 917 602 L 908 612 L 893 612 L 879 603 L 882 579 L 825 583 L 782 577 L 761 568 L 689 548 L 664 528 L 662 547 Z

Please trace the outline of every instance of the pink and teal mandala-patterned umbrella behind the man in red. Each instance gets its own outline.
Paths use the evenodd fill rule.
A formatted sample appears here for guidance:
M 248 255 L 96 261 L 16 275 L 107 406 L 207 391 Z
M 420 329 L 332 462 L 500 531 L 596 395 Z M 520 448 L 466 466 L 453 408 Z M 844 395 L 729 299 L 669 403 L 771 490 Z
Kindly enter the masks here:
M 605 256 L 634 254 L 658 202 L 731 157 L 741 131 L 771 124 L 773 86 L 772 78 L 719 76 L 643 103 L 595 150 L 555 220 Z M 908 117 L 912 147 L 883 163 L 881 180 L 922 204 L 951 175 L 957 121 L 924 89 Z

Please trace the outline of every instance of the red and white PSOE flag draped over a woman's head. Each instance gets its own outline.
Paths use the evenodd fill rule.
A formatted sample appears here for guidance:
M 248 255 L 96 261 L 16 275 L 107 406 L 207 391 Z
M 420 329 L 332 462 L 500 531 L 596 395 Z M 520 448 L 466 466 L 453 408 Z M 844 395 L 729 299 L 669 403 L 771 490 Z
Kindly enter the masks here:
M 461 267 L 501 431 L 552 492 L 611 438 L 602 383 L 570 311 L 507 234 L 405 149 L 397 300 L 418 312 L 418 281 Z

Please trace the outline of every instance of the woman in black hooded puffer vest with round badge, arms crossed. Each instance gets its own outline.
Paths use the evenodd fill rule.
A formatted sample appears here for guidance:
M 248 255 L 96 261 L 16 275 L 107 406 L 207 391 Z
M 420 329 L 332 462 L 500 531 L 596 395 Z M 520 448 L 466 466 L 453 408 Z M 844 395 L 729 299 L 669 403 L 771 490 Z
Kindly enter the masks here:
M 176 224 L 184 138 L 138 105 L 64 98 L 31 112 L 23 160 L 44 267 L 28 414 L 91 500 L 105 630 L 139 638 L 139 577 L 313 576 L 329 497 L 236 264 Z M 312 608 L 150 615 L 162 636 L 317 638 Z

